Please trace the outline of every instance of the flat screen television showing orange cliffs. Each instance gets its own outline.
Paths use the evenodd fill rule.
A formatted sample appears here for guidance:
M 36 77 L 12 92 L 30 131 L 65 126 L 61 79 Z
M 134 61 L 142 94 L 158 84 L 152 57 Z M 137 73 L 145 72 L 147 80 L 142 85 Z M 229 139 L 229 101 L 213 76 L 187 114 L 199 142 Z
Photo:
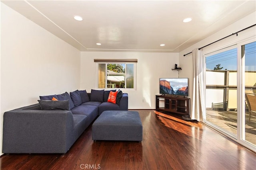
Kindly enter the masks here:
M 160 94 L 188 96 L 188 78 L 160 78 Z

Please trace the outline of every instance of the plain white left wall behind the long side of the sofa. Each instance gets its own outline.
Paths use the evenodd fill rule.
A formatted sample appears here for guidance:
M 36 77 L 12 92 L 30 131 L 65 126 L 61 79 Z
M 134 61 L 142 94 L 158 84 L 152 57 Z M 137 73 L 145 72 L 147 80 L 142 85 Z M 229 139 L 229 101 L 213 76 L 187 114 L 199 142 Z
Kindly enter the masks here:
M 80 51 L 1 3 L 0 150 L 5 111 L 80 87 Z

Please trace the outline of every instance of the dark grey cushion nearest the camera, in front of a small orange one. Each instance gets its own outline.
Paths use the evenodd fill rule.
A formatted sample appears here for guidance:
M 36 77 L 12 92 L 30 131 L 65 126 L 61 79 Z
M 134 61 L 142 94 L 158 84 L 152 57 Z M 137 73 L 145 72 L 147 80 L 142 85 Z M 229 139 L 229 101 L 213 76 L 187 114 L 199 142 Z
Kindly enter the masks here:
M 41 110 L 70 110 L 68 100 L 38 100 Z

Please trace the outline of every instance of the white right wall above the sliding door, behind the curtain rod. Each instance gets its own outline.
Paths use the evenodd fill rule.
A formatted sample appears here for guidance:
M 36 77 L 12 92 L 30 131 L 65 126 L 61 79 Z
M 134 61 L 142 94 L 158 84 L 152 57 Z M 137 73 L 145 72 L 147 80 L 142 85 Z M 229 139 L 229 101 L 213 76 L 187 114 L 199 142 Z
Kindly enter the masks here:
M 208 45 L 210 43 L 213 43 L 214 41 L 217 41 L 218 39 L 222 39 L 223 37 L 226 37 L 228 35 L 231 35 L 232 33 L 236 33 L 237 31 L 240 31 L 246 27 L 249 27 L 251 25 L 254 25 L 256 23 L 256 12 L 253 12 L 252 14 L 242 18 L 241 20 L 236 21 L 235 23 L 229 25 L 228 27 L 214 33 L 213 35 L 207 37 L 206 39 L 203 39 L 202 41 L 199 41 L 198 43 L 190 46 L 189 48 L 185 49 L 184 51 L 181 51 L 179 53 L 179 63 L 182 67 L 182 72 L 180 72 L 180 77 L 188 77 L 189 81 L 189 87 L 192 87 L 192 79 L 193 79 L 193 72 L 192 72 L 192 50 L 195 48 L 204 47 L 205 45 Z M 234 45 L 234 42 L 236 41 L 243 41 L 244 39 L 255 39 L 256 29 L 255 27 L 252 27 L 250 29 L 246 29 L 240 33 L 238 33 L 238 36 L 232 35 L 226 39 L 223 39 L 221 41 L 218 41 L 212 45 L 209 45 L 208 47 L 205 47 L 202 49 L 203 54 L 207 54 L 210 52 L 215 51 L 216 49 L 220 47 L 228 47 L 230 45 Z M 252 37 L 254 35 L 254 37 Z M 256 41 L 256 39 L 255 39 Z M 183 56 L 184 54 L 190 53 L 189 55 Z M 188 89 L 188 95 L 191 97 L 192 95 L 192 88 Z

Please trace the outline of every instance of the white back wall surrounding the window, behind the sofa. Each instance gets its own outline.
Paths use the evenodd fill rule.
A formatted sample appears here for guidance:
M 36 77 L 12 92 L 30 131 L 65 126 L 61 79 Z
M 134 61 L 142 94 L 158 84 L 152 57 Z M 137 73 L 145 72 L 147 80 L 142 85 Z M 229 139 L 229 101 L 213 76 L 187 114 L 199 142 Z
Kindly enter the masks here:
M 87 92 L 97 89 L 94 59 L 138 59 L 136 90 L 122 90 L 128 93 L 128 109 L 155 109 L 159 78 L 178 77 L 178 71 L 171 70 L 178 64 L 178 53 L 81 52 L 80 87 Z

